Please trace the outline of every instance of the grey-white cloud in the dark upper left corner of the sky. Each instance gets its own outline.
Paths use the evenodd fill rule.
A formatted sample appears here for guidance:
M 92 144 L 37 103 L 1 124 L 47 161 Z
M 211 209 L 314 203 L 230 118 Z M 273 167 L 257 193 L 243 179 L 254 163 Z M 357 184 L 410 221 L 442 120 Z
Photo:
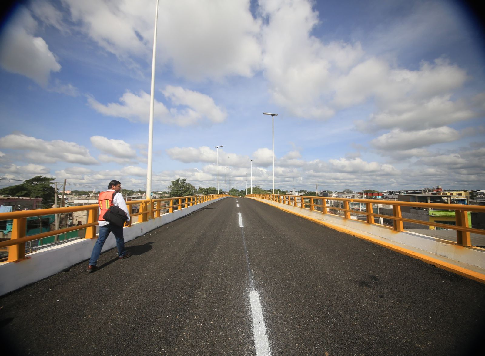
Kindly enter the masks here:
M 21 7 L 0 37 L 0 65 L 3 69 L 28 77 L 42 87 L 49 83 L 51 72 L 61 65 L 42 37 L 35 37 L 37 22 L 27 9 Z M 5 50 L 8 48 L 8 50 Z

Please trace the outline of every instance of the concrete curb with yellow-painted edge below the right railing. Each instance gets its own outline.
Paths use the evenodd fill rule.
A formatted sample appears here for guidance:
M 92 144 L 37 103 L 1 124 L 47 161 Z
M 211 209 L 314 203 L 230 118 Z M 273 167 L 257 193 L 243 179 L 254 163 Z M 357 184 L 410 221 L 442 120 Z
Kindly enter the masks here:
M 276 201 L 261 201 L 285 212 L 303 217 L 323 226 L 365 239 L 374 244 L 417 258 L 425 263 L 485 283 L 485 249 L 463 247 L 436 237 L 414 232 L 396 232 L 390 228 L 331 214 L 310 211 Z M 425 232 L 426 230 L 423 230 Z

